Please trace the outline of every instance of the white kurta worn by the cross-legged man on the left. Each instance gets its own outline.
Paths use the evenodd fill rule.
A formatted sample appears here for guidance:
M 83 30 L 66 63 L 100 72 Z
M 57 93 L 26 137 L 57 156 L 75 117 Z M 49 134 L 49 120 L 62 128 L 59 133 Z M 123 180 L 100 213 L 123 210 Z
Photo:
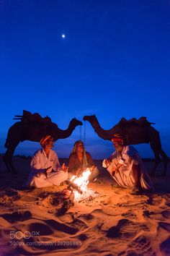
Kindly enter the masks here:
M 51 167 L 56 171 L 53 175 L 45 175 L 45 170 Z M 68 172 L 61 171 L 61 165 L 58 156 L 54 150 L 50 150 L 49 155 L 45 154 L 43 149 L 37 150 L 31 161 L 31 171 L 27 180 L 27 186 L 30 187 L 49 187 L 52 185 L 59 186 L 61 182 L 68 178 Z

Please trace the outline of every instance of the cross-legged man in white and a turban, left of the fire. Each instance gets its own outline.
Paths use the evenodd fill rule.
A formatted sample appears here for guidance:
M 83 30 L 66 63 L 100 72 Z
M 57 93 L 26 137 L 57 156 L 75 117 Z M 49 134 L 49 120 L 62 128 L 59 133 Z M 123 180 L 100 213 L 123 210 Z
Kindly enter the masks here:
M 47 135 L 40 140 L 41 150 L 37 150 L 31 161 L 31 172 L 27 181 L 30 187 L 59 186 L 68 178 L 68 167 L 61 166 L 53 148 L 53 137 Z

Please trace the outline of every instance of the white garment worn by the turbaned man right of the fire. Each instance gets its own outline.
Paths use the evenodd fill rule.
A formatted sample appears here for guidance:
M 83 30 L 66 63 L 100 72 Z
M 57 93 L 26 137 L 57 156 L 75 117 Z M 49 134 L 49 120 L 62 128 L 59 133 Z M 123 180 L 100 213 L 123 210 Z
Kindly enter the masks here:
M 122 164 L 122 166 L 119 168 L 119 171 L 117 171 L 113 176 L 113 179 L 115 179 L 117 184 L 119 184 L 121 187 L 134 187 L 135 179 L 133 176 L 133 165 L 139 165 L 141 174 L 141 187 L 143 187 L 143 189 L 153 188 L 151 179 L 148 176 L 146 168 L 143 166 L 143 161 L 140 158 L 138 151 L 135 150 L 132 145 L 125 146 L 122 150 L 122 153 L 115 151 L 114 153 L 112 153 L 109 159 L 111 160 L 109 166 L 106 166 L 106 164 L 104 163 L 106 159 L 104 159 L 102 166 L 104 168 L 107 168 L 107 171 L 109 171 L 109 174 L 111 175 L 117 163 Z

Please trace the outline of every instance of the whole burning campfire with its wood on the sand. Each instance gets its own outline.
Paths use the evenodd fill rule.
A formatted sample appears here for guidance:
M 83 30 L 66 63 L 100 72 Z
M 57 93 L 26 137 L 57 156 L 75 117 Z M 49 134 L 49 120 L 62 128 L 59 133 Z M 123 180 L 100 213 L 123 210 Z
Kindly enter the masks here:
M 70 187 L 73 189 L 74 202 L 80 202 L 95 194 L 93 189 L 87 187 L 87 185 L 89 184 L 90 174 L 91 168 L 86 168 L 86 170 L 81 175 L 74 175 L 71 178 Z

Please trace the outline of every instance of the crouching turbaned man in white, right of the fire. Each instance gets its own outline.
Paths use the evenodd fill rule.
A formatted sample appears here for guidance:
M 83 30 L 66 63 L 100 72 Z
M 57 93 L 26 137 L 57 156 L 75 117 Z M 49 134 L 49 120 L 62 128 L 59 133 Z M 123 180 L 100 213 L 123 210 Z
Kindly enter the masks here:
M 153 189 L 138 151 L 132 145 L 125 145 L 125 138 L 122 135 L 114 135 L 112 142 L 115 152 L 110 158 L 104 159 L 103 167 L 107 168 L 117 185 L 132 188 L 132 194 L 138 194 L 142 189 Z

